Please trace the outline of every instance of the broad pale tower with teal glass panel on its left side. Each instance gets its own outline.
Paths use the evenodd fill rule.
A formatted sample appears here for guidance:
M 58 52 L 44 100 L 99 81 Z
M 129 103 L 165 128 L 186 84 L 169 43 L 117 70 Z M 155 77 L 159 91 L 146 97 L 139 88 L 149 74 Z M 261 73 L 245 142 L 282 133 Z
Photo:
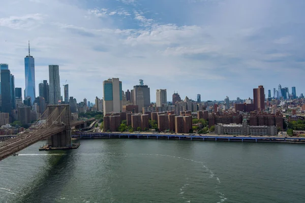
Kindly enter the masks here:
M 112 78 L 103 82 L 104 100 L 103 112 L 119 113 L 123 110 L 122 106 L 122 82 L 118 78 Z

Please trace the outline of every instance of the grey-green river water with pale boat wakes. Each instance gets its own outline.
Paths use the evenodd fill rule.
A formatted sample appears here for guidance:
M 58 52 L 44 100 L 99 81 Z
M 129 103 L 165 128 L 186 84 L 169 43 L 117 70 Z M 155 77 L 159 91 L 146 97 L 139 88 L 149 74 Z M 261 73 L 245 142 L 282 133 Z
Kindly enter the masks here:
M 305 202 L 305 145 L 81 140 L 0 161 L 0 202 Z

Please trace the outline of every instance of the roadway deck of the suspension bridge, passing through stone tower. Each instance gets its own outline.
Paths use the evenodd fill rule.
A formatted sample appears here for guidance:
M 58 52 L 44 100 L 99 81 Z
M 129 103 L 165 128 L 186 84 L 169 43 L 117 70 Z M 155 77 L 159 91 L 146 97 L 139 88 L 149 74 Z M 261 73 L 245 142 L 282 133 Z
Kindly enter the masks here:
M 71 122 L 70 126 L 76 126 L 83 124 L 86 121 L 74 121 Z M 21 136 L 17 136 L 16 138 L 10 139 L 5 142 L 0 143 L 0 161 L 30 145 L 33 145 L 34 143 L 47 139 L 49 136 L 52 136 L 53 134 L 62 132 L 66 129 L 66 126 L 60 125 L 60 126 L 52 126 L 50 128 L 48 127 L 42 127 L 41 129 L 24 133 Z

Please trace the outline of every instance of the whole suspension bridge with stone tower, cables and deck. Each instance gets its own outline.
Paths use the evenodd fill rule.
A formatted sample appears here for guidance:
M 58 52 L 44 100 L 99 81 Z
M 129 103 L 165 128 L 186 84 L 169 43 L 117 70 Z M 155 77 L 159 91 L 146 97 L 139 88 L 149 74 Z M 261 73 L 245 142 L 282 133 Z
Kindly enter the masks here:
M 20 136 L 0 143 L 0 160 L 44 139 L 49 148 L 69 149 L 72 147 L 71 128 L 85 126 L 87 121 L 91 120 L 71 121 L 70 105 L 49 105 Z

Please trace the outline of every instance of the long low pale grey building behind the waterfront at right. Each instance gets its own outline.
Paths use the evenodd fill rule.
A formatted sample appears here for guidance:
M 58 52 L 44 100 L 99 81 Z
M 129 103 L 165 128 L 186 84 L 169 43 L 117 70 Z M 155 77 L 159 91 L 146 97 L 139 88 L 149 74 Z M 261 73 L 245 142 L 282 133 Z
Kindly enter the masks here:
M 277 126 L 250 126 L 248 121 L 244 119 L 242 124 L 217 124 L 215 133 L 220 134 L 236 134 L 243 136 L 277 136 Z

